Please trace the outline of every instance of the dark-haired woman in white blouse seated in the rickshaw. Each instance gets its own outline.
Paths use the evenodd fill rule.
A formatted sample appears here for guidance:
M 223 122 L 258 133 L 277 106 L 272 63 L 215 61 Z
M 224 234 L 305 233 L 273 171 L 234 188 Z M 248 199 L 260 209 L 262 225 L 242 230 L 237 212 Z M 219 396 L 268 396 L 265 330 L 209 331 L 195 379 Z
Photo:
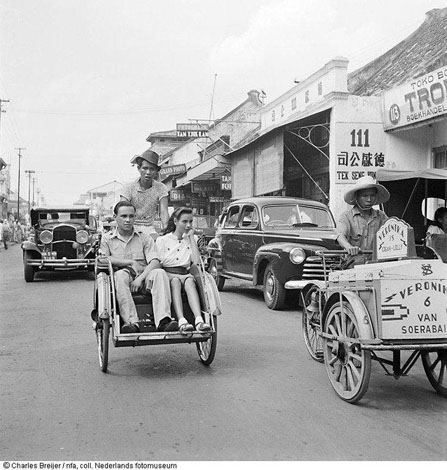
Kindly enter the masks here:
M 196 330 L 203 332 L 211 329 L 203 320 L 195 279 L 190 273 L 192 260 L 200 259 L 192 222 L 192 209 L 187 207 L 176 209 L 169 218 L 164 235 L 158 237 L 155 242 L 162 267 L 170 279 L 172 305 L 182 333 L 194 329 L 184 317 L 182 288 L 186 292 L 189 306 L 194 314 Z

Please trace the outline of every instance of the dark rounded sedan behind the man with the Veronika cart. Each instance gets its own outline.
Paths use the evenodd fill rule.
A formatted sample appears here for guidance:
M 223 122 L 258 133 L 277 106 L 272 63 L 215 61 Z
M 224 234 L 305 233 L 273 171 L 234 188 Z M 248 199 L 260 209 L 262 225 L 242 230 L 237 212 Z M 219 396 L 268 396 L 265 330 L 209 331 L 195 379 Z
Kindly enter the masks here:
M 208 244 L 208 270 L 225 279 L 263 286 L 267 306 L 285 304 L 287 281 L 323 279 L 318 250 L 339 250 L 334 218 L 325 204 L 291 197 L 254 197 L 231 203 Z

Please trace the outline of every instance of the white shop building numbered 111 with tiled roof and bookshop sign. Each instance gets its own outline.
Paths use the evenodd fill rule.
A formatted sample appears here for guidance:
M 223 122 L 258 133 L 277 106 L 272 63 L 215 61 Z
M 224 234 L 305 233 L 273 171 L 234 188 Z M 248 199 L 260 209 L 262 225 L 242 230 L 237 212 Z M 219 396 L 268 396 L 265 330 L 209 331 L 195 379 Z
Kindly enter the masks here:
M 447 165 L 446 11 L 427 13 L 409 38 L 349 77 L 348 60 L 336 58 L 263 106 L 259 129 L 226 154 L 232 198 L 304 197 L 328 203 L 337 219 L 347 209 L 343 194 L 362 176 Z M 393 86 L 403 88 L 387 91 Z M 414 108 L 397 127 L 387 122 L 396 93 Z

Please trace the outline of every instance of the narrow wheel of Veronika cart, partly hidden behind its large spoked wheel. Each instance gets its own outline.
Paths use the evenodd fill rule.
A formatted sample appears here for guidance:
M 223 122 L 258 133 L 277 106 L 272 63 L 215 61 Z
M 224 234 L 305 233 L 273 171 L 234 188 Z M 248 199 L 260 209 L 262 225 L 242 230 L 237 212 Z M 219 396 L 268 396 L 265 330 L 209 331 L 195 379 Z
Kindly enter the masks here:
M 323 340 L 319 335 L 321 331 L 320 325 L 320 312 L 314 312 L 308 310 L 312 299 L 314 305 L 319 305 L 319 297 L 321 291 L 318 286 L 312 286 L 306 294 L 302 297 L 303 299 L 303 313 L 301 317 L 304 343 L 306 344 L 307 351 L 309 352 L 312 359 L 318 362 L 323 362 Z M 316 304 L 315 304 L 316 302 Z

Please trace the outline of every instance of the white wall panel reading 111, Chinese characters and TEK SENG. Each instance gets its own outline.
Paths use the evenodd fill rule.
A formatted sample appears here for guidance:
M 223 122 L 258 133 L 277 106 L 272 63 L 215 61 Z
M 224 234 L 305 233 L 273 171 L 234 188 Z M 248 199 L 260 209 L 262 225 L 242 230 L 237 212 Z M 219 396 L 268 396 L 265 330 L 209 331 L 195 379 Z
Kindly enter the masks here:
M 337 123 L 335 183 L 350 184 L 362 176 L 375 178 L 386 163 L 385 133 L 380 123 Z

